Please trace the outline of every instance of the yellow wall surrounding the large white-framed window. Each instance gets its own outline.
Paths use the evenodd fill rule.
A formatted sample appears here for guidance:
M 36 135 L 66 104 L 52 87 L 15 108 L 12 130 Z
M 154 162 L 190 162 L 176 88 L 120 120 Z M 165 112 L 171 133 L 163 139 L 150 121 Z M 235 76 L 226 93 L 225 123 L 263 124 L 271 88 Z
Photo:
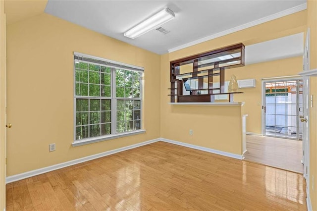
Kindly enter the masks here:
M 74 51 L 145 68 L 145 134 L 71 146 Z M 8 25 L 7 176 L 159 138 L 159 65 L 158 54 L 46 13 Z

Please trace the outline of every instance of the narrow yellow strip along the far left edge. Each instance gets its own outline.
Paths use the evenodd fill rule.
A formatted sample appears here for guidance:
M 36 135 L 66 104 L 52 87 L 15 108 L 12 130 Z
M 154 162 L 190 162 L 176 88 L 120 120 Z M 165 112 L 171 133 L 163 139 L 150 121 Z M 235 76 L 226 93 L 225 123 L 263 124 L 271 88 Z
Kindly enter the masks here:
M 0 210 L 5 208 L 5 15 L 0 0 Z

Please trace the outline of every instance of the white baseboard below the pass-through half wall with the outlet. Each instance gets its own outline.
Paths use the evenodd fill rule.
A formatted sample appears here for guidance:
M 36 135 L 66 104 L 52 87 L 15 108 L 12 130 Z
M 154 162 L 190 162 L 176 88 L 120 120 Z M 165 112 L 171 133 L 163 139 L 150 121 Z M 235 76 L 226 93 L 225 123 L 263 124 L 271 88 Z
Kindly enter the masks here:
M 220 151 L 220 150 L 213 150 L 211 148 L 200 147 L 200 146 L 197 146 L 197 145 L 187 144 L 187 143 L 174 141 L 174 140 L 169 140 L 169 139 L 164 139 L 164 138 L 160 138 L 160 140 L 163 141 L 163 142 L 176 144 L 176 145 L 180 145 L 180 146 L 183 146 L 183 147 L 188 147 L 188 148 L 192 148 L 192 149 L 196 149 L 196 150 L 201 150 L 201 151 L 205 151 L 205 152 L 209 152 L 209 153 L 213 153 L 213 154 L 217 154 L 217 155 L 221 155 L 221 156 L 226 156 L 226 157 L 229 157 L 229 158 L 243 159 L 243 155 L 227 153 L 227 152 L 223 152 L 223 151 Z

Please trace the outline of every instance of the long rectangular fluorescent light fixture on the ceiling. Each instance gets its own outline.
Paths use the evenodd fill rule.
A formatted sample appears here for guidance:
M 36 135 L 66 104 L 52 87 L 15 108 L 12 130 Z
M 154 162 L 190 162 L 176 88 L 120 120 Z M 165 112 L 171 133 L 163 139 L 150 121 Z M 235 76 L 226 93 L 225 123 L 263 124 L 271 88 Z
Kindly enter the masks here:
M 151 31 L 152 29 L 155 29 L 162 24 L 170 21 L 175 17 L 175 14 L 172 10 L 169 8 L 164 8 L 163 10 L 159 11 L 155 15 L 151 16 L 150 18 L 146 19 L 145 21 L 139 23 L 132 29 L 128 30 L 126 33 L 124 33 L 124 36 L 135 39 L 148 31 Z

